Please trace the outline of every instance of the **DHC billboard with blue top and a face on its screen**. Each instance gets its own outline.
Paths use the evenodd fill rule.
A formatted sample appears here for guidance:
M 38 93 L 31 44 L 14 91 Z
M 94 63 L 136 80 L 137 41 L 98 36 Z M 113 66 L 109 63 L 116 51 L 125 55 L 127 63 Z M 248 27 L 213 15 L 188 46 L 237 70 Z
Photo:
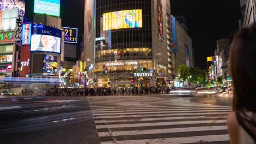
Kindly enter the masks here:
M 33 25 L 31 52 L 61 53 L 61 30 L 43 25 Z

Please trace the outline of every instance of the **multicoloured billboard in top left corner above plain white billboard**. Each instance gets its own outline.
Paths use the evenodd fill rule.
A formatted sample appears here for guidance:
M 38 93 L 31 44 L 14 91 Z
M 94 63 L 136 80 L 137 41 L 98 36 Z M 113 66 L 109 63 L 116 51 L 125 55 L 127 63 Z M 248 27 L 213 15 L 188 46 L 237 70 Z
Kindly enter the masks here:
M 25 1 L 21 0 L 0 0 L 0 10 L 19 9 L 19 16 L 25 15 Z

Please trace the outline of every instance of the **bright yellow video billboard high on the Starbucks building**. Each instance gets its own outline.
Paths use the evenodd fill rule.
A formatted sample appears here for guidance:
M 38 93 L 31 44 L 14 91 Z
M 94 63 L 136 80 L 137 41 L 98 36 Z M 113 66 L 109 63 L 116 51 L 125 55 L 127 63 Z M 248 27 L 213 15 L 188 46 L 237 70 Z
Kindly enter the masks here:
M 103 14 L 103 31 L 142 27 L 142 10 L 121 10 Z

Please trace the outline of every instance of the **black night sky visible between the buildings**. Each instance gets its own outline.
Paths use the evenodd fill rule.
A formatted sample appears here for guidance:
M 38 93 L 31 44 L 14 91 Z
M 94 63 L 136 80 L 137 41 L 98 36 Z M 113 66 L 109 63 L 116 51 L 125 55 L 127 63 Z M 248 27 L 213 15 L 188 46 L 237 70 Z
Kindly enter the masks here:
M 26 0 L 28 19 L 32 19 L 32 12 L 33 0 Z M 206 57 L 214 55 L 216 40 L 228 38 L 238 29 L 240 0 L 171 0 L 171 14 L 184 15 L 187 19 L 196 67 L 205 69 Z M 78 28 L 80 41 L 84 26 L 84 0 L 61 0 L 60 17 L 62 26 Z

